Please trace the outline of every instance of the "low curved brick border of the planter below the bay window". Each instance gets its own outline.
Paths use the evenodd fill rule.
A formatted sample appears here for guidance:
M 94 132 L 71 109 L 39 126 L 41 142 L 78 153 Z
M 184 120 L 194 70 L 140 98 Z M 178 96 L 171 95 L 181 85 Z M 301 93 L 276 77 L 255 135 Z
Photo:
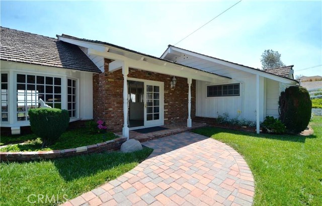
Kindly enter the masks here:
M 1 161 L 32 161 L 40 159 L 56 159 L 60 157 L 72 157 L 82 154 L 100 153 L 104 151 L 119 150 L 126 141 L 125 137 L 114 140 L 64 150 L 36 151 L 36 152 L 0 152 Z

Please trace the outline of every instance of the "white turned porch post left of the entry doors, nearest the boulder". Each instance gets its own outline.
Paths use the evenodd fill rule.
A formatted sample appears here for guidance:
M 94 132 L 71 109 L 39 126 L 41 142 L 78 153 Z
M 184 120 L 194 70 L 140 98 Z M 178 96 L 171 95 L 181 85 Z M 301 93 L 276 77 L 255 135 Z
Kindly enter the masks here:
M 124 62 L 122 65 L 122 74 L 123 74 L 123 116 L 124 116 L 124 126 L 122 134 L 124 137 L 129 139 L 129 128 L 127 126 L 127 113 L 128 113 L 128 94 L 127 94 L 127 75 L 129 74 L 129 67 Z

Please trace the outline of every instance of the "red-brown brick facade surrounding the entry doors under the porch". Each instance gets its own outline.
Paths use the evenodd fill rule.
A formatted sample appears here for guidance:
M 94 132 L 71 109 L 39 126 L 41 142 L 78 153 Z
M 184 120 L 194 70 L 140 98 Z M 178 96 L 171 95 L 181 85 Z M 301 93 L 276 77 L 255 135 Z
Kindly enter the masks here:
M 93 75 L 93 115 L 104 120 L 109 129 L 121 131 L 123 127 L 123 74 L 119 69 L 109 72 L 111 61 L 105 59 L 105 72 Z M 173 76 L 129 68 L 128 77 L 162 81 L 165 83 L 165 124 L 188 119 L 188 81 L 177 77 L 175 88 L 170 88 Z M 196 114 L 196 81 L 191 85 L 191 118 Z

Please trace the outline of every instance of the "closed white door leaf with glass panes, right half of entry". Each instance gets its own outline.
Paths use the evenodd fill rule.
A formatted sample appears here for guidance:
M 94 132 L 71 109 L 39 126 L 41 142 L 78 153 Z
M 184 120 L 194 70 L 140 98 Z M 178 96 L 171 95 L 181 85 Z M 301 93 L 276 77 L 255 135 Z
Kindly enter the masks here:
M 164 125 L 164 82 L 144 80 L 144 127 Z

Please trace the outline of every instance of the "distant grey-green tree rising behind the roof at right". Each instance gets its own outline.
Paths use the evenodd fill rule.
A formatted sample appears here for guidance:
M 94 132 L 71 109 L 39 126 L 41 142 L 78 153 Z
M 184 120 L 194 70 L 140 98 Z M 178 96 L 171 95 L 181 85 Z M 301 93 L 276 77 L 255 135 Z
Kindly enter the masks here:
M 261 62 L 262 69 L 285 66 L 281 61 L 281 54 L 278 53 L 278 51 L 273 51 L 272 49 L 267 49 L 263 52 Z

